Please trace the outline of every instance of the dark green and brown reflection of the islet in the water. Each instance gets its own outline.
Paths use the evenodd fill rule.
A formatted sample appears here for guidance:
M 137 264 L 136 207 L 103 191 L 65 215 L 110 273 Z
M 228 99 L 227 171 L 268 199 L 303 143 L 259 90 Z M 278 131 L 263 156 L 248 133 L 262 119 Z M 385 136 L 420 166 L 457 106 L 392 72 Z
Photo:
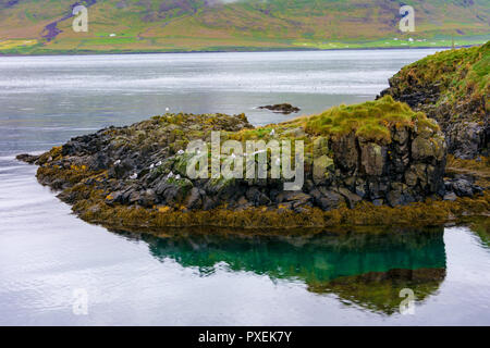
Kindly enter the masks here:
M 321 234 L 303 237 L 183 233 L 130 235 L 149 245 L 152 256 L 212 274 L 218 263 L 231 271 L 304 282 L 317 294 L 335 294 L 344 303 L 376 312 L 397 311 L 400 290 L 418 301 L 445 277 L 443 228 L 395 234 Z

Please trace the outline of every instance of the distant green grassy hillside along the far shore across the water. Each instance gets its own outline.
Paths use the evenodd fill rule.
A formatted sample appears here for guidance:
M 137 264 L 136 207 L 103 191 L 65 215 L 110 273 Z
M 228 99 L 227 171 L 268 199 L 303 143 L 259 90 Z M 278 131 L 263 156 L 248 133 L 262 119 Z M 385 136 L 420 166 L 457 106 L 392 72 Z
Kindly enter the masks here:
M 488 0 L 412 0 L 416 32 L 399 30 L 392 0 L 0 0 L 0 51 L 193 51 L 436 47 L 490 38 Z M 111 36 L 111 34 L 115 34 Z M 396 38 L 396 39 L 395 39 Z M 413 38 L 413 41 L 408 41 Z

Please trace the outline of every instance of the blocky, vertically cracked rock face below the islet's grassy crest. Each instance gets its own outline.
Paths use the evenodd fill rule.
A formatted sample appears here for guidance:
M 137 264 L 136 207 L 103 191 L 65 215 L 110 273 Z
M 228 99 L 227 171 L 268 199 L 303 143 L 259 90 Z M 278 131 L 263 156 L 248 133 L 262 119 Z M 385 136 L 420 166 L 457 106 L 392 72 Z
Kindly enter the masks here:
M 391 100 L 391 99 L 390 99 Z M 389 102 L 388 102 L 389 104 Z M 387 110 L 375 113 L 391 113 L 402 104 L 391 104 Z M 383 108 L 381 107 L 381 109 Z M 394 107 L 393 110 L 390 110 Z M 404 112 L 407 111 L 403 110 Z M 352 109 L 354 119 L 365 110 Z M 348 115 L 341 112 L 348 123 Z M 422 201 L 432 195 L 443 195 L 443 174 L 445 165 L 445 144 L 439 127 L 426 122 L 424 115 L 415 115 L 409 121 L 399 119 L 384 129 L 371 133 L 351 130 L 331 135 L 327 152 L 332 154 L 333 164 L 327 171 L 327 178 L 314 177 L 317 185 L 340 194 L 348 207 L 360 200 L 377 206 L 391 207 Z M 406 122 L 406 123 L 405 123 Z M 379 133 L 387 132 L 384 137 Z M 323 150 L 324 151 L 324 150 Z M 317 153 L 316 157 L 326 156 Z M 314 164 L 315 165 L 315 164 Z

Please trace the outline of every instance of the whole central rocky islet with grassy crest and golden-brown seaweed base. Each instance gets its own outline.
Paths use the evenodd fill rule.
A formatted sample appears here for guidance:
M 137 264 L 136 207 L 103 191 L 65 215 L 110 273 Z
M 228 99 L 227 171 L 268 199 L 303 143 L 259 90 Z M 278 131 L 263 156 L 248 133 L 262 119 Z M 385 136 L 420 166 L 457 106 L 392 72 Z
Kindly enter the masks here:
M 291 179 L 272 177 L 271 156 L 266 178 L 189 177 L 187 146 L 209 144 L 211 132 L 241 144 L 303 141 L 303 186 L 285 190 Z M 82 219 L 112 227 L 433 225 L 489 212 L 470 175 L 445 177 L 438 124 L 389 96 L 259 128 L 243 114 L 164 114 L 17 158 L 39 165 L 39 183 Z

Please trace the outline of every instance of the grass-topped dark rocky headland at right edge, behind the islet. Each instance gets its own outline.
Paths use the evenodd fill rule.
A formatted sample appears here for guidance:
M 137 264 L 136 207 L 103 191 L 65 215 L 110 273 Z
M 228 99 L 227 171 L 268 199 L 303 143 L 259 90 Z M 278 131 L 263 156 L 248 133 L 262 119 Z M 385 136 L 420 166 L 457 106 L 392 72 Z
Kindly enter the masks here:
M 490 42 L 407 65 L 390 78 L 385 95 L 437 120 L 455 157 L 489 156 Z

